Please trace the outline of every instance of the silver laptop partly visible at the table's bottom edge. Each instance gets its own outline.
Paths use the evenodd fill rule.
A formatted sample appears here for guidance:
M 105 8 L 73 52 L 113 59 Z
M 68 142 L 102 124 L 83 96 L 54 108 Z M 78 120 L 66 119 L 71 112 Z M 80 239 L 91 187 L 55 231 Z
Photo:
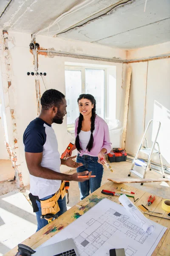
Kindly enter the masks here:
M 79 256 L 72 238 L 35 250 L 34 256 Z

